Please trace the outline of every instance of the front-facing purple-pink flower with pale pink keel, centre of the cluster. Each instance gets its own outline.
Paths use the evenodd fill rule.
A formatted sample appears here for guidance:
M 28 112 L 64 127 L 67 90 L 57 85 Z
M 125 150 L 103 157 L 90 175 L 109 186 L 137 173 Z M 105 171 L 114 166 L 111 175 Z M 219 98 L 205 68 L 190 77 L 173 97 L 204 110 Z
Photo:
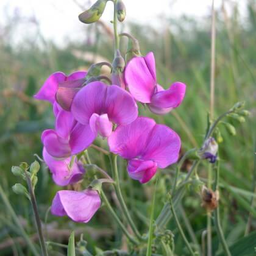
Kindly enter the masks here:
M 71 113 L 80 124 L 89 125 L 94 134 L 108 137 L 112 133 L 113 123 L 132 123 L 138 116 L 138 107 L 127 91 L 96 81 L 76 94 Z

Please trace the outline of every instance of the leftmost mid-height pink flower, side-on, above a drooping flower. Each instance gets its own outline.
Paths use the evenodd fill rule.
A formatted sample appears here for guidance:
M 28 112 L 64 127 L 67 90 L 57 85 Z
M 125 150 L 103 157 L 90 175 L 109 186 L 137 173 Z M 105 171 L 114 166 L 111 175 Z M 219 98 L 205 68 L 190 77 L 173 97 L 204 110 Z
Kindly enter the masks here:
M 52 157 L 66 158 L 84 151 L 95 140 L 97 133 L 89 124 L 80 124 L 71 112 L 59 109 L 55 121 L 55 130 L 44 130 L 41 141 Z

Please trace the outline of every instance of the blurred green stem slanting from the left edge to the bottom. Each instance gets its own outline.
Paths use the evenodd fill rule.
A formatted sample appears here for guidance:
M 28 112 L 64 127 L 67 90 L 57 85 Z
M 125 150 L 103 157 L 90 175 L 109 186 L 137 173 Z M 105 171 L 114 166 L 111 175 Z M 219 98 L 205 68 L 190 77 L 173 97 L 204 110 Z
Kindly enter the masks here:
M 21 226 L 20 220 L 16 216 L 16 213 L 14 212 L 14 210 L 12 208 L 12 205 L 10 205 L 10 202 L 7 199 L 7 196 L 5 195 L 4 190 L 2 190 L 2 186 L 1 185 L 0 185 L 0 195 L 2 197 L 2 201 L 4 202 L 5 207 L 7 208 L 8 212 L 12 216 L 13 221 L 15 222 L 16 226 L 20 229 L 21 235 L 23 235 L 24 239 L 26 240 L 27 245 L 30 247 L 30 249 L 31 249 L 31 251 L 33 252 L 34 255 L 40 256 L 40 254 L 38 254 L 38 252 L 37 252 L 37 249 L 35 249 L 34 244 L 30 240 L 29 236 L 27 235 L 27 233 L 23 229 L 23 226 Z

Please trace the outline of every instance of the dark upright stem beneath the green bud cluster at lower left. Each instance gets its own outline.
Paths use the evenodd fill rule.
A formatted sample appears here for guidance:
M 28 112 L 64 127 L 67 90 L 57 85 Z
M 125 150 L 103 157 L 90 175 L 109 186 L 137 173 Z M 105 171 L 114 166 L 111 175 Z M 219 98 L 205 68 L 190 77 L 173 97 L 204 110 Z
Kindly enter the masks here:
M 32 208 L 35 216 L 35 223 L 37 224 L 37 233 L 40 241 L 41 251 L 43 256 L 48 256 L 48 252 L 44 243 L 43 231 L 42 231 L 41 221 L 38 213 L 37 201 L 35 199 L 34 188 L 32 187 L 32 182 L 30 177 L 26 174 L 26 172 L 24 173 L 26 175 L 27 187 L 29 187 L 30 202 L 32 204 Z

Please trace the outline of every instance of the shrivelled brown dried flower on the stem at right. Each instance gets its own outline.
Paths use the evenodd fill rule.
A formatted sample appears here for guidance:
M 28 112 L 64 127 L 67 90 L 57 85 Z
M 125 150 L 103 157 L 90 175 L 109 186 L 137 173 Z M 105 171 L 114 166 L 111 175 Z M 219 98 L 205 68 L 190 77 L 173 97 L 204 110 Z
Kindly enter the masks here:
M 208 211 L 212 211 L 218 207 L 219 203 L 219 191 L 212 191 L 209 188 L 202 187 L 202 206 L 205 207 Z

